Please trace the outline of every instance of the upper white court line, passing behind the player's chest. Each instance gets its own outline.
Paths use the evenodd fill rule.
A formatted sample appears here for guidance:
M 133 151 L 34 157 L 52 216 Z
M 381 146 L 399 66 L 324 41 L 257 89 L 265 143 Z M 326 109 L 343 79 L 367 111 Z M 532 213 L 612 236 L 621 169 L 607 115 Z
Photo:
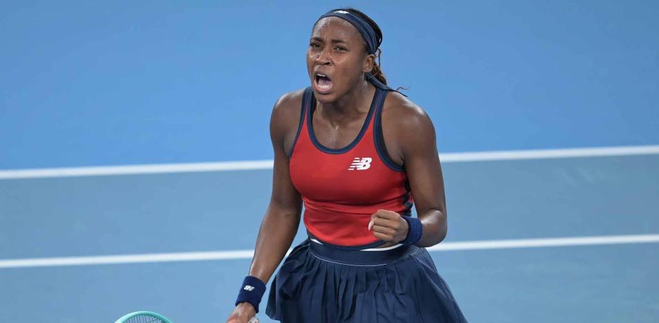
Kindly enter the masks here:
M 659 154 L 659 145 L 594 147 L 567 149 L 533 149 L 511 151 L 479 151 L 440 154 L 442 163 L 463 163 L 493 160 L 526 160 L 546 158 L 577 158 L 602 156 L 633 156 Z M 98 167 L 65 167 L 0 170 L 0 179 L 31 179 L 44 177 L 111 176 L 131 174 L 162 174 L 184 172 L 225 172 L 236 170 L 272 169 L 273 160 L 243 160 L 219 163 L 151 164 Z

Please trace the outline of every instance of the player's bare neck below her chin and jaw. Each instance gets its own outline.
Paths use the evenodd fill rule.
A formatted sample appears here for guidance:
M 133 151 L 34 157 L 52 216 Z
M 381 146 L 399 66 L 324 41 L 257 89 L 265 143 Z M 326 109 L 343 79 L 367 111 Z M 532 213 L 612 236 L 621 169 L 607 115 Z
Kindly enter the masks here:
M 363 115 L 363 113 L 368 113 L 375 87 L 363 78 L 357 84 L 359 85 L 355 86 L 354 90 L 334 102 L 318 102 L 318 113 L 336 126 L 343 124 L 344 121 L 354 120 L 354 117 Z

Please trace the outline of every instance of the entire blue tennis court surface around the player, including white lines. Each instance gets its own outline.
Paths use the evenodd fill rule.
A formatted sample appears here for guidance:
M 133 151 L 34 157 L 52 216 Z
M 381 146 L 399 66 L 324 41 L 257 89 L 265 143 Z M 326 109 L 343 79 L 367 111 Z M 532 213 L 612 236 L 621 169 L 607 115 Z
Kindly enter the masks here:
M 469 322 L 657 322 L 659 6 L 477 3 L 336 5 L 375 17 L 436 126 L 438 272 Z M 331 8 L 3 7 L 1 321 L 224 322 L 271 194 L 271 106 L 308 83 Z

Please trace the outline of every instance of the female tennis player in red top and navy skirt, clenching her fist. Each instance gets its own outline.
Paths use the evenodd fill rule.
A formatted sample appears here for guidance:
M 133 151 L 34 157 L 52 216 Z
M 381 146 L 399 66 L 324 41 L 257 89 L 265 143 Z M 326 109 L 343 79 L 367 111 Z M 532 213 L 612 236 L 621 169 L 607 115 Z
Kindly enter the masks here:
M 273 108 L 273 191 L 255 255 L 227 322 L 259 311 L 265 283 L 298 231 L 309 238 L 271 284 L 266 313 L 284 323 L 466 322 L 424 247 L 447 232 L 434 126 L 386 85 L 382 32 L 352 8 L 314 25 L 311 86 Z M 411 217 L 413 200 L 418 217 Z

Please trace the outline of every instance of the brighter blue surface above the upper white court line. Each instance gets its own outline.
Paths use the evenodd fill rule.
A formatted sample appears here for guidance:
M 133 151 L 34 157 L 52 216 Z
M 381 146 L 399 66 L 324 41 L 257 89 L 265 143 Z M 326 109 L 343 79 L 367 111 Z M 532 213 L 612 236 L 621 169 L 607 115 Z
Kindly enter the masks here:
M 440 151 L 659 142 L 657 1 L 5 1 L 0 169 L 272 158 L 271 107 L 346 5 Z

